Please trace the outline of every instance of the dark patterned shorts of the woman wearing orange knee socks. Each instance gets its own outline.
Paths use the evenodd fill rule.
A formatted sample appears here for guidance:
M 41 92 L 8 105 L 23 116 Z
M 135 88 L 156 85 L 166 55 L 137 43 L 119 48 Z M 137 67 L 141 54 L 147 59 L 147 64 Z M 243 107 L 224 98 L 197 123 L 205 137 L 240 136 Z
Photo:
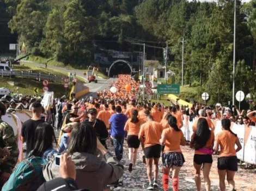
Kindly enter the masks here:
M 162 163 L 164 167 L 171 168 L 173 165 L 176 167 L 182 167 L 185 162 L 185 158 L 182 152 L 164 152 L 162 155 Z

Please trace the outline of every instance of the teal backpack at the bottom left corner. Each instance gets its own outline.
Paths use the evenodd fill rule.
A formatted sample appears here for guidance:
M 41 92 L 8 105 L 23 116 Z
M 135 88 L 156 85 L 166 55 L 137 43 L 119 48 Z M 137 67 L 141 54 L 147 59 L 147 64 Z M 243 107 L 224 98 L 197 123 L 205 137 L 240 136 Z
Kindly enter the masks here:
M 2 191 L 37 190 L 45 182 L 42 168 L 47 161 L 41 157 L 31 156 L 17 165 Z

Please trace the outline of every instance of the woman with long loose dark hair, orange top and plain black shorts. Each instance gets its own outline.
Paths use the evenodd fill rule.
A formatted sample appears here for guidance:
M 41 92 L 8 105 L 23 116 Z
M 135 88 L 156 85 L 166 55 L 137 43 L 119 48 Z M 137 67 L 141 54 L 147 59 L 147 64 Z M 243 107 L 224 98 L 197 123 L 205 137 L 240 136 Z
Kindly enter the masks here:
M 197 130 L 192 135 L 190 147 L 194 151 L 194 169 L 196 174 L 194 181 L 196 182 L 197 190 L 201 190 L 200 172 L 203 165 L 204 185 L 205 190 L 211 188 L 210 170 L 212 164 L 212 154 L 214 150 L 214 132 L 209 129 L 209 124 L 205 118 L 199 118 L 197 122 Z

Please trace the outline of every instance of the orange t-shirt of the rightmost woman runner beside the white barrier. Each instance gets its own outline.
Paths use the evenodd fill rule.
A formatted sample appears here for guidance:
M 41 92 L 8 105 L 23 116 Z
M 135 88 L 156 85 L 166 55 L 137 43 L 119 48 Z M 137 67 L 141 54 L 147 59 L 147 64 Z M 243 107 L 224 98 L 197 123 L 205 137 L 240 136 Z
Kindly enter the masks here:
M 223 156 L 236 156 L 235 151 L 235 142 L 236 136 L 233 135 L 230 131 L 223 130 L 222 132 L 218 133 L 216 136 L 216 141 L 220 143 L 221 151 L 218 157 Z

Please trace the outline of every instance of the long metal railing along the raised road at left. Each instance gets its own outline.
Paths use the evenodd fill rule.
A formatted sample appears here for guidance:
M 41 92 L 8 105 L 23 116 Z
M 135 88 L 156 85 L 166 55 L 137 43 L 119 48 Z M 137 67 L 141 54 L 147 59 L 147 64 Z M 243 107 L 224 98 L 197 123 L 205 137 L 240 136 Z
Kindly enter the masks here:
M 48 80 L 48 81 L 54 81 L 54 83 L 56 82 L 63 82 L 64 78 L 67 78 L 66 76 L 63 75 L 63 77 L 61 76 L 57 76 L 57 75 L 52 75 L 50 74 L 42 74 L 42 73 L 35 73 L 32 71 L 28 71 L 28 72 L 23 72 L 23 71 L 4 71 L 3 69 L 0 70 L 0 76 L 3 77 L 8 77 L 8 78 L 16 78 L 16 77 L 21 77 L 22 79 L 34 79 L 34 80 Z

